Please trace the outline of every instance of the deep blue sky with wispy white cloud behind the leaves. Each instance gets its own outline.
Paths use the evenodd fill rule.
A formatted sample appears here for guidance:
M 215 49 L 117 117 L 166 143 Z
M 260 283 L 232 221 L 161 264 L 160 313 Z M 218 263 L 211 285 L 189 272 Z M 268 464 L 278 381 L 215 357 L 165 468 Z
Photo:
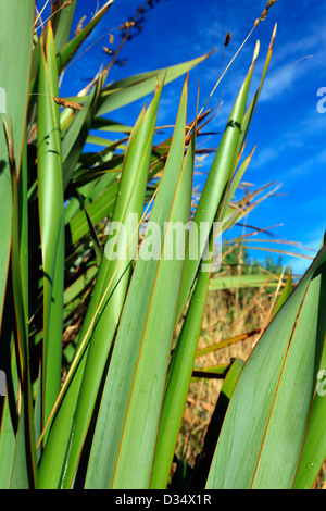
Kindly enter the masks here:
M 84 14 L 87 21 L 90 20 L 97 3 L 98 0 L 78 0 L 76 20 Z M 104 3 L 104 0 L 99 0 L 100 7 Z M 130 18 L 140 3 L 141 0 L 115 0 L 86 46 Z M 230 30 L 233 38 L 223 70 L 250 32 L 254 20 L 260 16 L 266 1 L 161 0 L 155 3 L 154 0 L 153 3 L 154 9 L 147 13 L 143 29 L 121 52 L 121 60 L 127 59 L 126 65 L 114 66 L 109 80 L 177 64 L 216 48 L 215 53 L 190 73 L 191 120 L 196 109 L 198 77 L 201 84 L 201 107 L 215 85 L 225 35 Z M 216 107 L 223 99 L 210 130 L 224 129 L 259 39 L 261 50 L 250 98 L 253 96 L 275 23 L 277 35 L 273 58 L 248 135 L 246 154 L 254 146 L 258 147 L 243 179 L 256 187 L 268 182 L 283 186 L 278 196 L 260 204 L 247 221 L 261 228 L 281 224 L 273 229 L 277 239 L 298 241 L 317 250 L 326 228 L 326 113 L 317 111 L 317 102 L 321 100 L 317 90 L 326 87 L 326 2 L 277 0 L 267 20 L 253 32 L 210 100 L 208 107 Z M 120 40 L 120 30 L 113 34 L 114 49 Z M 77 94 L 99 71 L 101 63 L 109 63 L 110 58 L 102 50 L 103 46 L 110 46 L 108 35 L 70 67 L 63 78 L 62 96 Z M 313 57 L 293 64 L 308 55 Z M 165 87 L 159 125 L 175 122 L 183 82 L 184 78 L 179 78 Z M 125 107 L 118 115 L 113 113 L 112 117 L 130 125 L 142 104 L 143 100 Z M 220 139 L 221 135 L 211 136 L 205 140 L 205 146 L 217 147 Z M 200 171 L 206 173 L 211 161 L 212 157 L 208 157 Z M 204 179 L 204 175 L 201 179 Z M 288 249 L 292 250 L 290 247 Z M 309 251 L 301 253 L 314 254 Z M 260 260 L 266 256 L 261 251 L 252 254 Z M 296 273 L 304 272 L 310 264 L 305 259 L 290 257 L 284 257 L 283 262 L 291 264 Z

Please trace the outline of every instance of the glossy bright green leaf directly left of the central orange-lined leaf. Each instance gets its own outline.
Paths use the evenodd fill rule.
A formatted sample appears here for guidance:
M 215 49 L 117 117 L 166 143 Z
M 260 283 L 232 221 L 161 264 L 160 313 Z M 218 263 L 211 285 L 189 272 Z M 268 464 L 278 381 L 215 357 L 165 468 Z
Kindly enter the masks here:
M 141 214 L 143 208 L 149 158 L 161 91 L 162 86 L 158 90 L 148 111 L 146 113 L 141 112 L 135 126 L 135 132 L 131 134 L 126 153 L 124 177 L 122 177 L 120 183 L 120 195 L 116 198 L 113 220 L 123 222 L 127 227 L 127 233 L 129 213 L 134 213 L 139 217 L 138 215 Z M 133 233 L 133 236 L 135 236 L 135 233 Z M 83 360 L 78 363 L 76 374 L 72 383 L 70 383 L 67 394 L 64 396 L 59 414 L 50 432 L 49 438 L 51 438 L 51 445 L 50 448 L 49 444 L 47 445 L 40 465 L 40 485 L 42 487 L 70 486 L 72 483 L 125 299 L 136 237 L 131 248 L 129 248 L 131 239 L 127 238 L 123 241 L 127 244 L 125 259 L 110 260 L 111 258 L 102 258 L 96 287 L 92 291 L 92 298 L 79 335 L 78 350 L 90 337 L 89 349 L 87 348 L 87 352 L 85 352 Z M 95 322 L 96 326 L 93 328 Z M 83 374 L 84 369 L 85 374 Z M 78 396 L 82 378 L 84 378 L 83 391 Z M 76 404 L 77 409 L 74 415 Z M 66 432 L 65 435 L 62 435 L 63 424 Z M 66 453 L 71 432 L 73 441 L 68 446 Z M 57 461 L 58 437 L 60 437 L 63 446 L 63 459 L 61 459 L 61 462 Z M 64 462 L 65 456 L 66 460 Z M 50 474 L 48 466 L 49 464 L 52 465 L 53 460 L 55 460 L 55 470 L 52 470 Z M 63 463 L 65 463 L 65 471 L 62 474 Z M 60 481 L 61 476 L 62 481 Z

